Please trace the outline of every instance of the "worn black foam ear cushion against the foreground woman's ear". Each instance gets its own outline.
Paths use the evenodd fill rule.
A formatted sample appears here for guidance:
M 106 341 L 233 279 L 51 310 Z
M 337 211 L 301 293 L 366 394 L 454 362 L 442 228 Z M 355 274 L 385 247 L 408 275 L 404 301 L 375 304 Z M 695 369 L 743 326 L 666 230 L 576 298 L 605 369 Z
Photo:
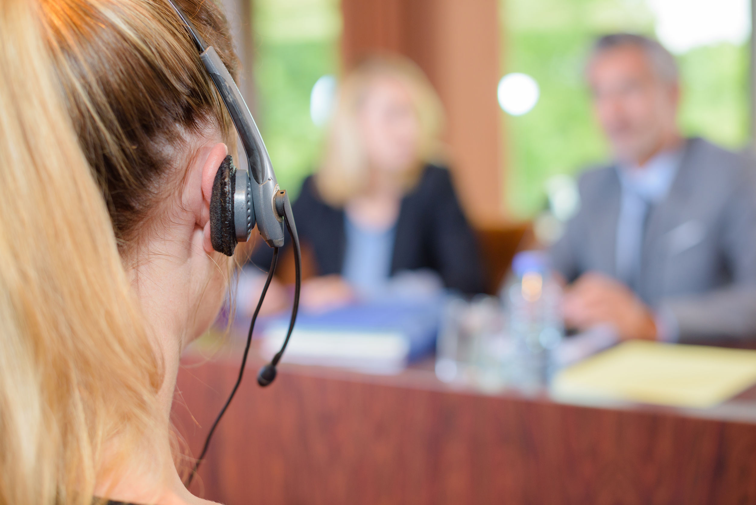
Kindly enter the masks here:
M 234 226 L 234 192 L 236 167 L 231 156 L 226 156 L 215 174 L 210 197 L 210 242 L 215 251 L 233 256 L 237 245 Z

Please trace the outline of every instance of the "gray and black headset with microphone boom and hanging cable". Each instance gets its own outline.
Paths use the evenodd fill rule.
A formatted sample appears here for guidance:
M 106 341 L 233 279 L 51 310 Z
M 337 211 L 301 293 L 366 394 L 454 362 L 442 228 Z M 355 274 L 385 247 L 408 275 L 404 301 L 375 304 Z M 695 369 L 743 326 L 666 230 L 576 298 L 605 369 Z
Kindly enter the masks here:
M 237 388 L 241 383 L 246 366 L 246 358 L 249 354 L 249 345 L 252 342 L 252 332 L 255 328 L 255 321 L 262 307 L 262 301 L 265 299 L 265 293 L 268 292 L 268 286 L 271 284 L 273 273 L 278 261 L 278 248 L 283 247 L 284 235 L 283 226 L 289 231 L 293 242 L 294 261 L 296 269 L 296 283 L 294 287 L 294 303 L 291 312 L 291 320 L 286 338 L 283 340 L 280 351 L 278 351 L 270 363 L 260 369 L 257 375 L 257 383 L 263 387 L 269 385 L 276 377 L 276 366 L 286 350 L 287 344 L 291 337 L 291 332 L 296 323 L 296 314 L 299 310 L 299 291 L 302 285 L 302 254 L 299 249 L 299 237 L 296 234 L 296 225 L 291 210 L 291 204 L 287 192 L 278 187 L 276 174 L 273 171 L 271 158 L 268 156 L 268 150 L 265 143 L 262 142 L 262 136 L 257 129 L 252 114 L 249 113 L 244 98 L 242 98 L 239 89 L 228 73 L 228 69 L 221 61 L 218 53 L 212 45 L 207 45 L 189 17 L 184 14 L 174 0 L 168 0 L 173 10 L 181 18 L 181 22 L 187 29 L 189 36 L 194 42 L 194 46 L 200 55 L 205 69 L 209 73 L 215 88 L 221 95 L 223 103 L 234 127 L 239 134 L 241 144 L 246 154 L 248 170 L 240 170 L 234 166 L 231 156 L 225 157 L 225 160 L 218 167 L 218 173 L 215 174 L 215 180 L 212 185 L 212 195 L 210 198 L 210 242 L 215 251 L 222 252 L 227 256 L 234 254 L 234 249 L 238 242 L 246 242 L 252 234 L 252 229 L 257 224 L 257 229 L 265 243 L 273 248 L 273 260 L 271 268 L 268 270 L 268 278 L 265 280 L 265 287 L 257 303 L 252 321 L 249 323 L 249 332 L 246 337 L 246 347 L 241 361 L 241 369 L 237 382 L 228 396 L 218 417 L 215 418 L 202 449 L 200 457 L 194 463 L 194 468 L 185 483 L 188 487 L 191 484 L 197 469 L 200 468 L 207 448 L 210 444 L 212 434 L 218 426 L 223 414 L 228 409 L 228 404 L 236 394 Z M 251 173 L 251 174 L 250 174 Z

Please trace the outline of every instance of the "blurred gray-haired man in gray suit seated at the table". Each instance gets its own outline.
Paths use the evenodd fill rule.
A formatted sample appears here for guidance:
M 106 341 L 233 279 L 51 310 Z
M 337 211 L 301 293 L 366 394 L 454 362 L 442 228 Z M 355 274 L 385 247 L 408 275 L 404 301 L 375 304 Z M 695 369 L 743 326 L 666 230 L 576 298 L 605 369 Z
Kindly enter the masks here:
M 748 160 L 683 139 L 677 65 L 652 39 L 599 39 L 587 81 L 614 161 L 581 176 L 581 210 L 551 251 L 565 323 L 663 341 L 756 335 Z

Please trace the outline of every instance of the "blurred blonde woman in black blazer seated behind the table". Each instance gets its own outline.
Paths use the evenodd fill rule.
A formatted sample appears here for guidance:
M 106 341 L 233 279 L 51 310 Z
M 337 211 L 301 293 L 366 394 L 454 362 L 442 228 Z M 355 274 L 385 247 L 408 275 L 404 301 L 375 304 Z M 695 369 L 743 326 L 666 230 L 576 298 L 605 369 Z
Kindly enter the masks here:
M 303 287 L 305 307 L 373 298 L 395 274 L 418 270 L 482 291 L 475 238 L 437 164 L 442 126 L 438 96 L 405 58 L 367 58 L 343 79 L 324 160 L 293 207 L 318 272 Z M 268 255 L 253 260 L 269 264 Z

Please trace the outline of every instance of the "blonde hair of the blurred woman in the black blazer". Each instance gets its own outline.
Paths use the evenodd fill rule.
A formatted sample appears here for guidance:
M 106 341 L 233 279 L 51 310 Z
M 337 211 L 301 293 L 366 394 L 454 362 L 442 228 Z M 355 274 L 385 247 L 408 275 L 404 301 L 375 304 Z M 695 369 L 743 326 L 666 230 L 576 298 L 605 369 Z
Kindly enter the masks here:
M 333 206 L 342 206 L 367 188 L 369 167 L 358 128 L 358 112 L 370 86 L 376 79 L 386 77 L 398 80 L 410 92 L 420 126 L 417 163 L 404 173 L 404 189 L 411 189 L 417 182 L 424 164 L 438 161 L 441 156 L 439 136 L 444 110 L 420 67 L 398 55 L 364 58 L 339 85 L 324 161 L 315 177 L 321 197 Z

